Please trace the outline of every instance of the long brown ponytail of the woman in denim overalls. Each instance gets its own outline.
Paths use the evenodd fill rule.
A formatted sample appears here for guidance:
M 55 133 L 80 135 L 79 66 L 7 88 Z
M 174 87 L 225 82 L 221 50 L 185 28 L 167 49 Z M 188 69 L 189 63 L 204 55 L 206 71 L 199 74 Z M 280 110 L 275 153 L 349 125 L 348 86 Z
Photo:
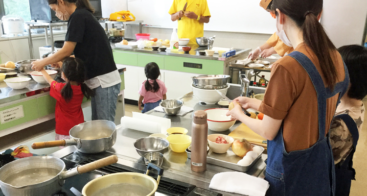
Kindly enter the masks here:
M 337 82 L 337 71 L 331 58 L 331 50 L 336 48 L 327 36 L 316 15 L 308 11 L 304 17 L 305 21 L 301 26 L 303 41 L 319 59 L 321 71 L 325 77 L 325 83 L 328 87 L 334 89 Z

